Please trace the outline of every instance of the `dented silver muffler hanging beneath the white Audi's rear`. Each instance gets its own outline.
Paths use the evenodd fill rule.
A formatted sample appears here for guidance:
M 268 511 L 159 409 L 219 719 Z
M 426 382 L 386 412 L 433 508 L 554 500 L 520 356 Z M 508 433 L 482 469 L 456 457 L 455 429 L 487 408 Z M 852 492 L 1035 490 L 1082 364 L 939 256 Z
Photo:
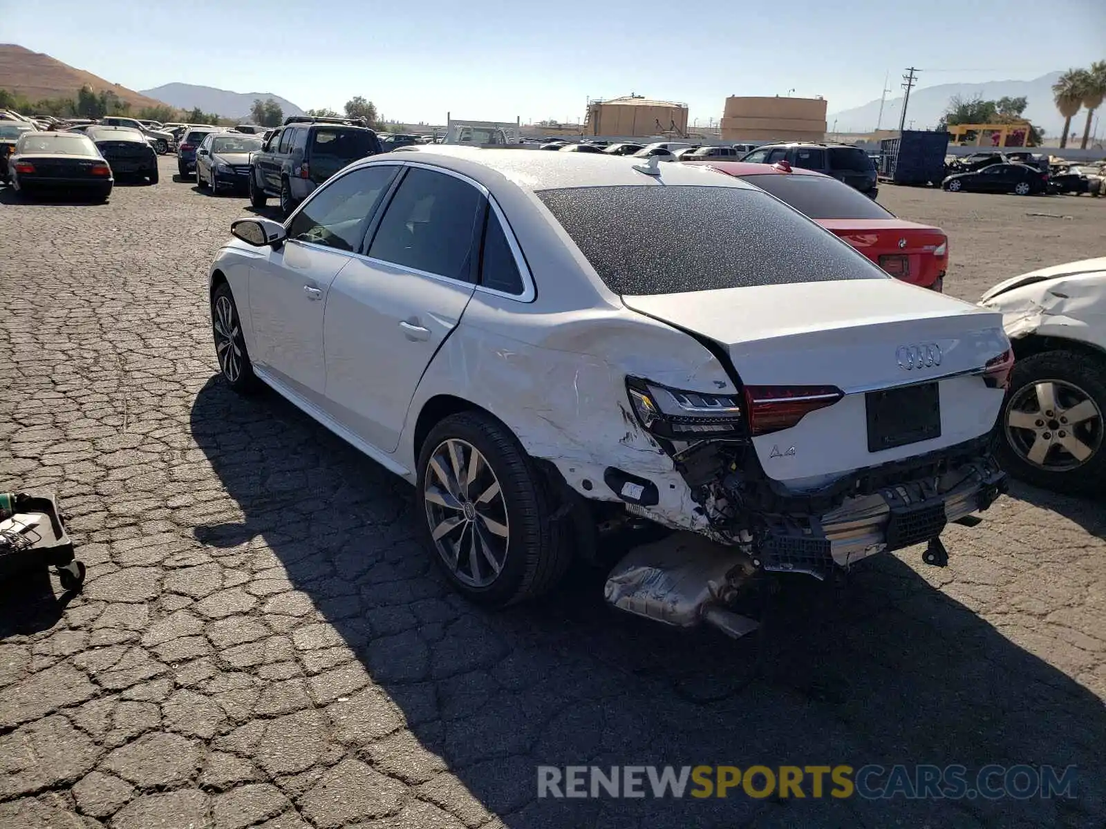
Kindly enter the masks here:
M 678 533 L 623 556 L 607 575 L 604 597 L 636 616 L 676 628 L 707 622 L 738 639 L 760 622 L 724 606 L 755 571 L 741 550 L 697 533 Z

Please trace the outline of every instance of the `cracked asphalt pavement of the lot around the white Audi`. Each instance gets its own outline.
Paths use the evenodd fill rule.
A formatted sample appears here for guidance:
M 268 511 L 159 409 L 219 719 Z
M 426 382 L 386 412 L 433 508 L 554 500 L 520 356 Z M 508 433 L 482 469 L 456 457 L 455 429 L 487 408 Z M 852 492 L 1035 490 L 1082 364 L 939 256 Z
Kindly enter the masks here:
M 88 566 L 0 584 L 0 827 L 1103 827 L 1106 517 L 1015 485 L 920 548 L 783 584 L 761 636 L 604 606 L 484 612 L 407 485 L 213 379 L 206 273 L 242 198 L 0 190 L 0 490 L 56 491 Z M 1100 255 L 1106 204 L 885 187 L 951 293 Z M 1031 217 L 1027 212 L 1068 219 Z M 536 797 L 538 765 L 1079 767 L 1074 799 Z

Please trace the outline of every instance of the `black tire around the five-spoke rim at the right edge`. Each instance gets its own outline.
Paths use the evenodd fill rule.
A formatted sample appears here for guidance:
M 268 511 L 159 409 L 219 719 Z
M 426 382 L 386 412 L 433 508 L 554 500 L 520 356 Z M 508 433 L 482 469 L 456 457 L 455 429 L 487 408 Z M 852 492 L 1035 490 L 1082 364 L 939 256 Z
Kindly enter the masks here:
M 1091 419 L 1075 421 L 1074 416 L 1071 422 L 1058 422 L 1058 417 L 1066 411 L 1057 411 L 1056 423 L 1048 423 L 1051 419 L 1042 413 L 1042 417 L 1033 422 L 1022 421 L 1026 423 L 1026 428 L 1012 424 L 1011 413 L 1013 412 L 1016 418 L 1019 412 L 1025 411 L 1022 401 L 1029 397 L 1033 387 L 1050 381 L 1054 388 L 1056 384 L 1063 385 L 1070 402 L 1075 402 L 1076 398 L 1091 401 L 1098 411 L 1097 422 Z M 1062 406 L 1065 405 L 1065 401 L 1055 393 L 1054 399 Z M 1083 402 L 1079 405 L 1086 406 Z M 999 418 L 999 461 L 1003 469 L 1015 478 L 1047 490 L 1073 493 L 1100 490 L 1106 486 L 1104 416 L 1106 416 L 1106 359 L 1081 351 L 1057 350 L 1018 360 L 1010 376 L 1010 391 L 1002 403 L 1002 413 Z M 1027 459 L 1026 447 L 1032 448 L 1035 438 L 1031 427 L 1039 420 L 1044 422 L 1041 427 L 1043 429 L 1047 429 L 1051 424 L 1068 431 L 1072 437 L 1092 449 L 1092 454 L 1074 468 L 1057 469 L 1064 465 L 1063 461 L 1072 459 L 1072 455 L 1061 451 L 1062 448 L 1053 447 L 1041 464 L 1031 462 Z M 1058 431 L 1046 433 L 1050 438 L 1060 436 Z

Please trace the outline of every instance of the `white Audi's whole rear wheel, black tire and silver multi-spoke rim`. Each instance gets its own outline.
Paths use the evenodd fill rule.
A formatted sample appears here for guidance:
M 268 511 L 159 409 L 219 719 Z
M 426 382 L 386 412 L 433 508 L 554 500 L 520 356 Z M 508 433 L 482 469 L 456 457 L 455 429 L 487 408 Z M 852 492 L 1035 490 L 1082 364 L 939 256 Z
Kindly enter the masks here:
M 446 578 L 472 601 L 503 607 L 550 590 L 570 562 L 568 533 L 541 471 L 483 412 L 451 414 L 419 453 L 419 513 Z

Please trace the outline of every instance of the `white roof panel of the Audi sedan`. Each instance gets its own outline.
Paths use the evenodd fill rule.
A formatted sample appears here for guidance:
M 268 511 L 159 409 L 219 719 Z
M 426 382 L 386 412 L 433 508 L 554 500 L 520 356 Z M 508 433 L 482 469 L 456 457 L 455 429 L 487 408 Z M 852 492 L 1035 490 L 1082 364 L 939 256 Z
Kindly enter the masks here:
M 751 188 L 743 181 L 710 175 L 692 165 L 660 162 L 659 175 L 640 172 L 641 159 L 607 153 L 539 153 L 528 149 L 484 149 L 458 145 L 415 145 L 369 156 L 358 166 L 374 161 L 410 161 L 442 167 L 469 176 L 495 192 L 514 188 L 534 192 L 568 187 L 617 187 L 649 185 L 698 185 Z

